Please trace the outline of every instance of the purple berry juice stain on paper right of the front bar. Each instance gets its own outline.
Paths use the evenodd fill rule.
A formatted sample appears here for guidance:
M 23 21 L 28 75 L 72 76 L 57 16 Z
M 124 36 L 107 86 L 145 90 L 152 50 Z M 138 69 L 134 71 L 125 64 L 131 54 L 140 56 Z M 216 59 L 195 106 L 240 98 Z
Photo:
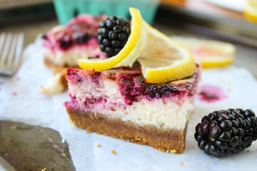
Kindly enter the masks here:
M 215 102 L 218 100 L 226 99 L 227 95 L 219 86 L 212 86 L 210 84 L 204 84 L 201 86 L 201 93 L 197 99 L 206 101 L 208 103 Z

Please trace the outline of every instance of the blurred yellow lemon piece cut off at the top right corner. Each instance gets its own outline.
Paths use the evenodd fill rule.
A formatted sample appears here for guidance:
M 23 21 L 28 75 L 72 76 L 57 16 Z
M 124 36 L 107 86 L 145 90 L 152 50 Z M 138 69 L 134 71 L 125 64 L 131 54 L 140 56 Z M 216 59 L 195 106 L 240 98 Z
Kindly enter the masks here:
M 247 0 L 244 6 L 244 16 L 250 21 L 257 22 L 257 1 Z

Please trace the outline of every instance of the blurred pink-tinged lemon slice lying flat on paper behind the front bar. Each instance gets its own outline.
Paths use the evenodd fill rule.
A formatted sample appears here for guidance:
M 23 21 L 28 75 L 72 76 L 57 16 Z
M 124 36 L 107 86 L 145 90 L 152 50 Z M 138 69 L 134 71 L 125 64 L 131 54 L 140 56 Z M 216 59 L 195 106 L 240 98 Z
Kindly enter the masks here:
M 181 36 L 171 38 L 190 50 L 193 57 L 202 62 L 203 68 L 224 66 L 234 61 L 236 48 L 230 43 Z

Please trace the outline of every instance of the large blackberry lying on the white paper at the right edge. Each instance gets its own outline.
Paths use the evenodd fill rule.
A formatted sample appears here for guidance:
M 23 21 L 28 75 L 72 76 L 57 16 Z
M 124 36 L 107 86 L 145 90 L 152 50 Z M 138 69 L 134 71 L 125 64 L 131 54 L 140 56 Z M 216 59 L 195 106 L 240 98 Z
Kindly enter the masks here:
M 214 111 L 196 125 L 194 138 L 205 154 L 229 157 L 250 147 L 257 139 L 256 121 L 251 109 Z

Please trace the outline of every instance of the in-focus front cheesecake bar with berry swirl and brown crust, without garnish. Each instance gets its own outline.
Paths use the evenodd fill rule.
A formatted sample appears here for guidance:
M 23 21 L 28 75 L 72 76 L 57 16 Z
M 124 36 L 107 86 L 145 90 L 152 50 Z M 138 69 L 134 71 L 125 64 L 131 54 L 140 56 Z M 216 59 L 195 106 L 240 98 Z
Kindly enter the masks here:
M 105 71 L 69 68 L 71 100 L 64 105 L 78 127 L 183 153 L 198 76 L 199 65 L 194 75 L 164 84 L 145 83 L 137 63 Z

